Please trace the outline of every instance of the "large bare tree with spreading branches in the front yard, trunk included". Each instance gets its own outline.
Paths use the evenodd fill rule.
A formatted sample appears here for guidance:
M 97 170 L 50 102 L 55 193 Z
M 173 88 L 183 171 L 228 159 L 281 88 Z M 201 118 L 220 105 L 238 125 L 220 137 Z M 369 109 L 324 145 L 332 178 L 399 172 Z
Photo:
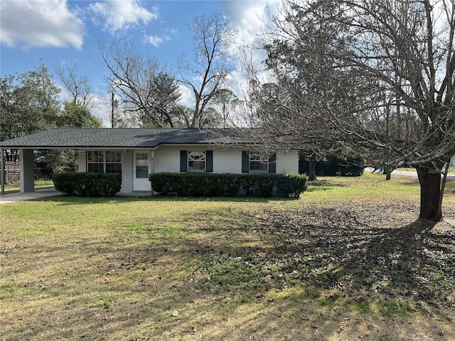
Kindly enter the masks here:
M 308 114 L 328 124 L 323 137 L 417 168 L 419 218 L 440 220 L 441 170 L 455 154 L 454 1 L 284 0 L 281 12 L 264 48 L 277 75 L 290 70 L 301 84 L 318 85 L 299 92 Z M 307 21 L 316 23 L 316 36 L 329 33 L 314 40 L 316 50 L 302 43 L 312 41 Z M 301 71 L 321 51 L 313 72 L 326 78 L 314 82 Z M 298 135 L 302 114 L 291 103 L 294 117 L 271 121 Z M 302 139 L 321 126 L 307 125 Z

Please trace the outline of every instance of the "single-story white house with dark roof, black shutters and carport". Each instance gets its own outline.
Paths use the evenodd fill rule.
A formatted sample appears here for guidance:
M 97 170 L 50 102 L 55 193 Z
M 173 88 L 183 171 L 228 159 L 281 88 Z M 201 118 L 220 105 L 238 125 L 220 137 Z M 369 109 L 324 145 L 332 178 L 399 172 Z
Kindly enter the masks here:
M 19 150 L 21 192 L 34 190 L 37 149 L 76 149 L 80 172 L 121 173 L 121 193 L 151 192 L 149 173 L 299 173 L 297 150 L 271 155 L 257 144 L 233 143 L 232 135 L 230 129 L 58 128 L 1 141 L 0 151 L 3 157 L 3 149 Z

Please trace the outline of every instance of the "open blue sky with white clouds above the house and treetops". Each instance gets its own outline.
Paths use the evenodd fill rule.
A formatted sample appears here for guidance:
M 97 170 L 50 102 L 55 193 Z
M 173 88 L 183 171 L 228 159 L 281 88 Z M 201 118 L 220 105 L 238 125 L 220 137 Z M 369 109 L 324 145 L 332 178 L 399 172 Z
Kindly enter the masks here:
M 114 38 L 130 40 L 138 52 L 171 66 L 178 53 L 193 59 L 188 23 L 196 16 L 223 13 L 237 29 L 237 43 L 252 43 L 263 27 L 265 11 L 276 4 L 277 0 L 0 0 L 0 75 L 35 70 L 41 62 L 53 74 L 67 63 L 76 65 L 77 73 L 88 77 L 93 92 L 102 97 L 107 67 L 100 39 L 107 45 Z

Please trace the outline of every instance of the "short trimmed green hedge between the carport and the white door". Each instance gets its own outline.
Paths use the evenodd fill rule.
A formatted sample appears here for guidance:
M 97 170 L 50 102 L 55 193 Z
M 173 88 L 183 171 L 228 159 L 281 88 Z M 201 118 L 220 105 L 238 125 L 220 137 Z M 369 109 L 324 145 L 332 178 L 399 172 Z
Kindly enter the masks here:
M 56 173 L 52 180 L 55 189 L 66 195 L 104 197 L 115 195 L 122 188 L 120 174 Z

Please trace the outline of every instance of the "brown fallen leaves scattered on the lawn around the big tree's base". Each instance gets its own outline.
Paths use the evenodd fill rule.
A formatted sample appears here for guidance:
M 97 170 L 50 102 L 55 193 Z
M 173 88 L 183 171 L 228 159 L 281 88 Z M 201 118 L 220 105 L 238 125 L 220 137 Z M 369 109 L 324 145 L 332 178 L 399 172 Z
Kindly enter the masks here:
M 267 207 L 245 212 L 258 247 L 214 249 L 188 280 L 205 292 L 262 291 L 295 285 L 349 295 L 412 296 L 454 306 L 455 229 L 413 222 L 415 204 L 353 202 L 350 207 Z M 260 217 L 260 218 L 258 218 Z M 196 289 L 198 290 L 198 289 Z M 335 300 L 336 301 L 336 300 Z M 401 311 L 401 310 L 400 310 Z

